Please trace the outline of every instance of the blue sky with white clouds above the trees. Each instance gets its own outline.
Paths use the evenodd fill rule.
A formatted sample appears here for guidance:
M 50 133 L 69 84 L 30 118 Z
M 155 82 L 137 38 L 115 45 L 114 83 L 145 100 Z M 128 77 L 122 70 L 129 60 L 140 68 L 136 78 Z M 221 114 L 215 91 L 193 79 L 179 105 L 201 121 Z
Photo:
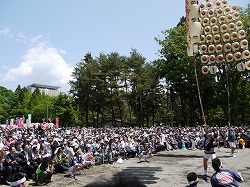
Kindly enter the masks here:
M 87 52 L 129 56 L 135 48 L 157 59 L 154 37 L 176 26 L 184 7 L 185 0 L 0 0 L 0 86 L 39 83 L 67 92 Z

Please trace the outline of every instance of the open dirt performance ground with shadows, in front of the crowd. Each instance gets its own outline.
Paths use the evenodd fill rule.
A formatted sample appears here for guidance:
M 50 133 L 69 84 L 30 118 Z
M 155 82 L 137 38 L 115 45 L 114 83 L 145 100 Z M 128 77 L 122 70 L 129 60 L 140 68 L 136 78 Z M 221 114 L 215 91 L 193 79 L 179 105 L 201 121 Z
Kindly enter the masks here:
M 240 149 L 237 157 L 229 156 L 230 149 L 222 148 L 220 152 L 216 148 L 216 155 L 223 162 L 224 168 L 238 171 L 244 178 L 241 187 L 250 186 L 250 149 Z M 203 171 L 202 150 L 174 150 L 157 153 L 150 162 L 137 163 L 137 158 L 125 160 L 123 164 L 104 164 L 94 166 L 82 171 L 82 175 L 76 176 L 77 180 L 68 178 L 68 175 L 58 174 L 53 177 L 53 182 L 46 186 L 51 187 L 80 187 L 89 182 L 110 179 L 118 173 L 137 176 L 148 187 L 175 186 L 184 187 L 187 185 L 186 175 L 189 172 L 196 172 L 198 175 Z M 213 174 L 211 160 L 209 160 L 208 177 L 199 176 L 199 187 L 210 185 L 210 176 Z M 35 184 L 28 182 L 29 186 Z

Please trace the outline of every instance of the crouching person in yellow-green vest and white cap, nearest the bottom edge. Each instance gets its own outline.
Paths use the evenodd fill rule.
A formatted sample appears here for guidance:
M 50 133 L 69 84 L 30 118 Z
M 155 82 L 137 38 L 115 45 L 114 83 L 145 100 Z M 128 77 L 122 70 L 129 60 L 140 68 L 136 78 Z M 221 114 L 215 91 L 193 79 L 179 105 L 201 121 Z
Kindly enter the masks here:
M 53 169 L 51 167 L 51 158 L 49 154 L 43 156 L 41 164 L 36 169 L 37 185 L 42 186 L 44 183 L 52 182 Z

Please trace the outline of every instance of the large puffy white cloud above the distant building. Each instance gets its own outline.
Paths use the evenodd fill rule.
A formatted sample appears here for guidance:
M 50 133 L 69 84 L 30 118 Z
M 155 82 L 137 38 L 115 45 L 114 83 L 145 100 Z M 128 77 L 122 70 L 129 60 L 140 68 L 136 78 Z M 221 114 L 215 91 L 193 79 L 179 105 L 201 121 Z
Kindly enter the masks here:
M 21 86 L 32 83 L 60 86 L 61 91 L 67 92 L 73 67 L 64 61 L 61 53 L 61 50 L 48 47 L 44 43 L 33 47 L 23 56 L 19 67 L 7 71 L 3 81 L 14 81 Z

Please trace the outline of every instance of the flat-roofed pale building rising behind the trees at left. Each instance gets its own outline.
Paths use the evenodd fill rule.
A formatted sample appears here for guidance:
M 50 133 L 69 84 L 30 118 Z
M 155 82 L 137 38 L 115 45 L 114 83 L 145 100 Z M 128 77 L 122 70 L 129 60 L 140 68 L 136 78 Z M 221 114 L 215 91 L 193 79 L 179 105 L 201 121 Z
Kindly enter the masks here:
M 27 86 L 26 88 L 31 93 L 33 93 L 35 89 L 38 88 L 41 94 L 45 94 L 48 96 L 57 96 L 60 94 L 60 91 L 58 90 L 60 87 L 58 86 L 50 86 L 50 85 L 34 83 L 34 84 Z

